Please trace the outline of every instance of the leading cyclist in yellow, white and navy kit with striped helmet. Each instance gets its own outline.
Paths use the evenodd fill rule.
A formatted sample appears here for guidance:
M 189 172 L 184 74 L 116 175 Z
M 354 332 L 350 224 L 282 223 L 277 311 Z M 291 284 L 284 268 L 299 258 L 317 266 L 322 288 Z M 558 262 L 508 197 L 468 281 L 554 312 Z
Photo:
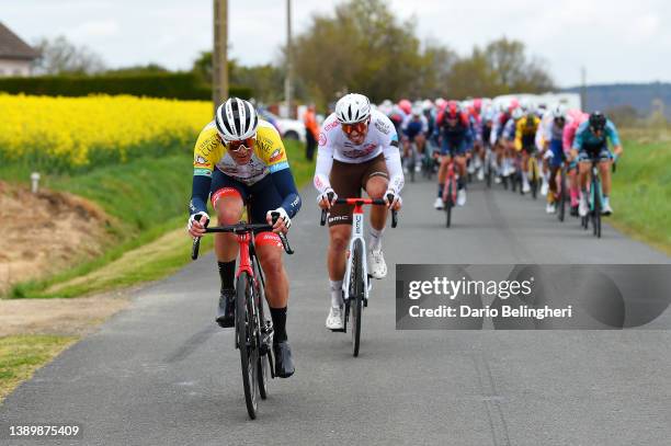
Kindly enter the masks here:
M 276 232 L 286 232 L 300 208 L 284 145 L 277 130 L 259 119 L 247 101 L 230 98 L 203 128 L 194 148 L 193 187 L 189 233 L 202 237 L 209 220 L 207 199 L 219 225 L 237 224 L 244 201 L 253 196 L 248 218 L 253 224 L 272 224 L 271 213 L 280 214 L 273 232 L 255 235 L 254 247 L 265 273 L 265 298 L 273 319 L 275 373 L 286 378 L 294 373 L 286 335 L 288 279 L 282 262 L 282 242 Z M 234 325 L 235 267 L 238 243 L 234 233 L 215 235 L 215 253 L 221 279 L 216 321 Z

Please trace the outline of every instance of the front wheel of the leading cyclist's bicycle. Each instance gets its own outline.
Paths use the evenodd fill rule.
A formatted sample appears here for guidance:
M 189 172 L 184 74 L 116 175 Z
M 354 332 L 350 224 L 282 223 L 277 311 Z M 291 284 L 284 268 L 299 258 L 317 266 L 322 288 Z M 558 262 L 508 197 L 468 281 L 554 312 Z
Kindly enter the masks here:
M 236 335 L 240 351 L 240 368 L 244 403 L 249 418 L 254 420 L 259 409 L 259 332 L 258 313 L 254 311 L 252 278 L 247 272 L 238 277 L 236 286 Z

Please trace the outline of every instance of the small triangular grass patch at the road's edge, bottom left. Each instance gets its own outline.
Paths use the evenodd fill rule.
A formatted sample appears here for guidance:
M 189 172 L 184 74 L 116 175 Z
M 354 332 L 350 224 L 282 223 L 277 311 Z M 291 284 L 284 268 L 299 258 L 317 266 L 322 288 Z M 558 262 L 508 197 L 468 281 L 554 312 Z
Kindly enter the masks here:
M 0 401 L 77 339 L 36 334 L 0 338 Z

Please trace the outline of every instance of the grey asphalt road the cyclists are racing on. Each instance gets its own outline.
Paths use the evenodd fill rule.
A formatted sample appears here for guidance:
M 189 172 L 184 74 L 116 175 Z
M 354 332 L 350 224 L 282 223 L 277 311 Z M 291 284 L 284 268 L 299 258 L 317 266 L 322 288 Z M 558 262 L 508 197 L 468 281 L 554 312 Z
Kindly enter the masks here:
M 596 240 L 499 188 L 471 187 L 448 230 L 431 207 L 433 184 L 407 185 L 403 196 L 399 228 L 385 233 L 390 274 L 375 282 L 353 358 L 350 334 L 323 328 L 327 231 L 305 191 L 287 259 L 296 374 L 271 382 L 257 421 L 244 409 L 232 332 L 213 322 L 212 254 L 139 291 L 10 396 L 0 420 L 80 423 L 83 438 L 61 444 L 87 445 L 669 445 L 670 331 L 396 331 L 394 305 L 396 262 L 668 256 L 609 226 Z

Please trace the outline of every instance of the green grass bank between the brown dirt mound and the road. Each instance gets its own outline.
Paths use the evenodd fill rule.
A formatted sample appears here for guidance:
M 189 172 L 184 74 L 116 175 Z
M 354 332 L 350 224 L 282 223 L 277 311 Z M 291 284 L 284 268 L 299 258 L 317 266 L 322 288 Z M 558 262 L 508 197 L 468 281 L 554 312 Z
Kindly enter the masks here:
M 304 146 L 285 141 L 298 187 L 314 174 Z M 183 226 L 191 194 L 191 155 L 160 160 L 137 159 L 82 176 L 49 180 L 49 186 L 100 204 L 118 222 L 110 228 L 116 242 L 96 259 L 42 281 L 12 287 L 11 298 L 78 297 L 166 277 L 191 261 L 191 240 Z M 202 252 L 212 248 L 205 238 Z

